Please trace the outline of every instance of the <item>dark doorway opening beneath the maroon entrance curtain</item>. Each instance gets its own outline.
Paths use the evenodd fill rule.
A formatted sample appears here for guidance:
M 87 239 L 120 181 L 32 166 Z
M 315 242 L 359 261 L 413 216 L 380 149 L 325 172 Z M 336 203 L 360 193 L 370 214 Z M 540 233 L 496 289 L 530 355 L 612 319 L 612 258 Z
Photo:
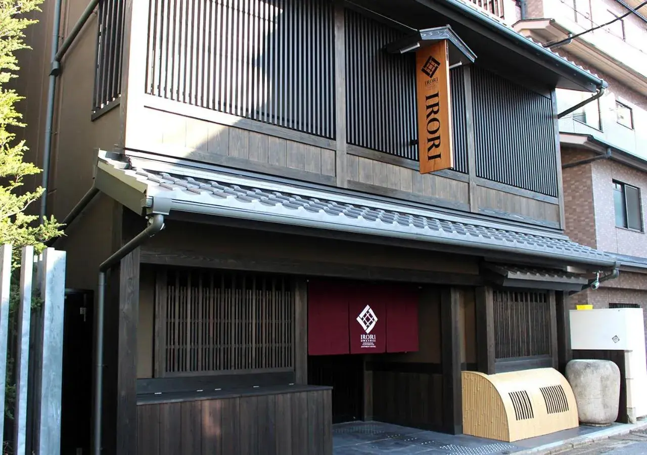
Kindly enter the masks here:
M 362 419 L 363 355 L 308 356 L 308 384 L 333 388 L 333 423 Z

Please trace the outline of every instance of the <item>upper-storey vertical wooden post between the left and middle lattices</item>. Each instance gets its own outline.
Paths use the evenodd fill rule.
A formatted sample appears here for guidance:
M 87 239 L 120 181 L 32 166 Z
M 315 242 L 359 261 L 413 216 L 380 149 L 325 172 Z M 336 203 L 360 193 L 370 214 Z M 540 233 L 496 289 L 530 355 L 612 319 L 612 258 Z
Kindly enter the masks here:
M 346 40 L 344 6 L 334 5 L 334 105 L 335 105 L 335 176 L 337 186 L 345 188 L 346 175 Z

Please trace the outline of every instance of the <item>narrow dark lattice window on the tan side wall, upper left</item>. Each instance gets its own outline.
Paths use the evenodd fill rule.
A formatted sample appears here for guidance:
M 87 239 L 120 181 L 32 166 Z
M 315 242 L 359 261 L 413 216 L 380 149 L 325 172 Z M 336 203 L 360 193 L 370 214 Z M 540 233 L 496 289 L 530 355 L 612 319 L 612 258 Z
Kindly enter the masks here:
M 94 112 L 121 95 L 124 0 L 100 0 L 94 75 Z

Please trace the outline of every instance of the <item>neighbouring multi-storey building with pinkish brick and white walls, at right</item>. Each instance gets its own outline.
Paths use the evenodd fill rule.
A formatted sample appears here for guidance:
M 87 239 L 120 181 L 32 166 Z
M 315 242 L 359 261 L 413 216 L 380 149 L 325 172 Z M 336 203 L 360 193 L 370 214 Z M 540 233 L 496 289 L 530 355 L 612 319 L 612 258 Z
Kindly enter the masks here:
M 617 0 L 529 0 L 514 25 L 609 83 L 602 96 L 560 118 L 566 232 L 620 263 L 618 278 L 574 294 L 573 307 L 647 309 L 647 7 L 621 17 L 628 12 Z M 614 16 L 620 19 L 564 41 Z M 558 111 L 589 96 L 558 91 Z

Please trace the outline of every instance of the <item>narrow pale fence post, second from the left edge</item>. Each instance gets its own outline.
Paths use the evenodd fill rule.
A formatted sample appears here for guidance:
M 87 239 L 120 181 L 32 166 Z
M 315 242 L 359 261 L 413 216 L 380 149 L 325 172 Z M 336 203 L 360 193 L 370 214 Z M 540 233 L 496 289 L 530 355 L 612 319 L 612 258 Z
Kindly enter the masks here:
M 16 410 L 14 411 L 14 455 L 25 455 L 27 443 L 27 387 L 29 373 L 29 329 L 32 315 L 34 247 L 23 247 L 20 262 L 20 302 L 16 333 Z

